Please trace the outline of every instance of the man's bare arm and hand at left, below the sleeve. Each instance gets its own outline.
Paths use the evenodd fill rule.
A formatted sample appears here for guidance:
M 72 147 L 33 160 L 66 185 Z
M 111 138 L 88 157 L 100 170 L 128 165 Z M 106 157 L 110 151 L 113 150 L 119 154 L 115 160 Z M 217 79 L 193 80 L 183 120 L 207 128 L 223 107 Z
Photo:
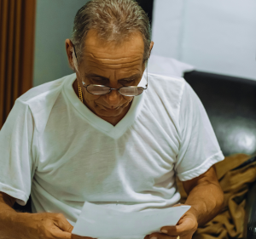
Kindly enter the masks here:
M 73 226 L 63 214 L 17 213 L 14 204 L 14 197 L 0 191 L 0 239 L 72 238 Z

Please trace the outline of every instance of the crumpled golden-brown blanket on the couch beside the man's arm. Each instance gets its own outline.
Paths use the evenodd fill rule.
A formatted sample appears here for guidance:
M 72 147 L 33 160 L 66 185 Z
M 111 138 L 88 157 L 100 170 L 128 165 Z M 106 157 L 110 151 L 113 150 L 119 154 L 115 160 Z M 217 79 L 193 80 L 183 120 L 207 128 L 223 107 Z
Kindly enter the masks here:
M 236 154 L 226 156 L 224 161 L 215 164 L 218 181 L 224 191 L 224 209 L 207 225 L 196 230 L 194 239 L 242 238 L 244 236 L 244 218 L 246 193 L 249 185 L 256 180 L 256 162 L 233 170 L 252 156 Z M 177 179 L 177 187 L 181 192 L 182 203 L 186 193 L 182 183 Z

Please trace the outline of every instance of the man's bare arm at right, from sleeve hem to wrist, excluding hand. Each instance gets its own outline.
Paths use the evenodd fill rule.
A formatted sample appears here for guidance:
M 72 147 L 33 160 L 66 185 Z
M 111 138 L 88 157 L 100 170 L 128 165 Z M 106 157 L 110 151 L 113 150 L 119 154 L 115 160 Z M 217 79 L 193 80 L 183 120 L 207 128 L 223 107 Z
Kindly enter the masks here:
M 189 212 L 194 213 L 198 225 L 205 225 L 224 206 L 224 192 L 218 183 L 214 166 L 205 174 L 184 181 L 183 188 L 188 194 L 185 204 L 191 205 Z

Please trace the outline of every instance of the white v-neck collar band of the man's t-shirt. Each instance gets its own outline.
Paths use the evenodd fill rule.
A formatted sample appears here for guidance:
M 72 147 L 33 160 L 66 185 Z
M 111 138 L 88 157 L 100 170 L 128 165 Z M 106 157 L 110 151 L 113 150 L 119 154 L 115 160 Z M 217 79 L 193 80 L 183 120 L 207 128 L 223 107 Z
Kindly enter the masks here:
M 87 106 L 79 100 L 79 97 L 73 90 L 73 83 L 75 80 L 75 73 L 67 77 L 64 83 L 64 92 L 73 107 L 76 108 L 77 111 L 79 111 L 81 116 L 84 117 L 86 122 L 89 122 L 92 127 L 96 128 L 104 134 L 107 134 L 113 139 L 118 139 L 125 133 L 127 128 L 129 128 L 132 123 L 135 122 L 143 106 L 143 95 L 147 92 L 147 90 L 144 91 L 143 94 L 140 94 L 133 98 L 131 102 L 131 107 L 126 113 L 125 117 L 123 117 L 115 126 L 113 126 L 111 123 L 103 120 L 101 117 L 96 116 L 95 113 L 90 111 L 90 109 L 88 109 Z M 143 74 L 143 78 L 138 86 L 142 86 L 144 88 L 146 83 L 147 81 L 145 78 L 145 74 Z

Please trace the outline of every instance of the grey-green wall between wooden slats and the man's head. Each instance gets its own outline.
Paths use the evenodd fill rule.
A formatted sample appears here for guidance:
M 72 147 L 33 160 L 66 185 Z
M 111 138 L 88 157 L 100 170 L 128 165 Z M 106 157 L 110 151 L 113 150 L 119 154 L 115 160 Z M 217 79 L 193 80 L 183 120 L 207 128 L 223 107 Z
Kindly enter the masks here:
M 38 0 L 33 85 L 73 73 L 67 63 L 65 40 L 73 20 L 87 0 Z

